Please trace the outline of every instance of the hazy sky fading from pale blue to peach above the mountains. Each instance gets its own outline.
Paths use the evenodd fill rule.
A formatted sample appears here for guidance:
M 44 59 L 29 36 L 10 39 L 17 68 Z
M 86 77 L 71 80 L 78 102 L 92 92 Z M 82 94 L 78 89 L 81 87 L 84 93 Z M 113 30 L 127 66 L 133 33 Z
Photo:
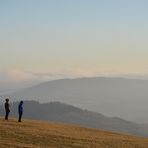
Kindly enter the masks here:
M 0 0 L 0 78 L 148 74 L 147 0 Z

